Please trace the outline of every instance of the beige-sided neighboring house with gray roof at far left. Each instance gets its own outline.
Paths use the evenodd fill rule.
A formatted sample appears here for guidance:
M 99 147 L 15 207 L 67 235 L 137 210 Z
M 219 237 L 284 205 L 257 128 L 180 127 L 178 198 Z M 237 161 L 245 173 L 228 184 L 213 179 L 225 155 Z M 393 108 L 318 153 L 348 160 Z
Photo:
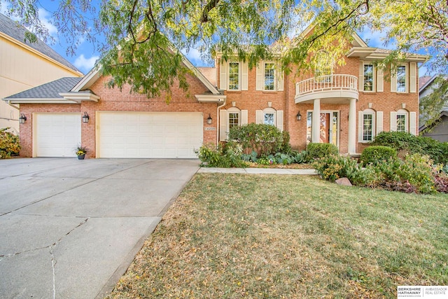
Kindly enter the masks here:
M 25 41 L 27 29 L 0 14 L 0 99 L 66 76 L 83 76 L 43 41 Z M 0 128 L 19 130 L 19 110 L 0 101 Z

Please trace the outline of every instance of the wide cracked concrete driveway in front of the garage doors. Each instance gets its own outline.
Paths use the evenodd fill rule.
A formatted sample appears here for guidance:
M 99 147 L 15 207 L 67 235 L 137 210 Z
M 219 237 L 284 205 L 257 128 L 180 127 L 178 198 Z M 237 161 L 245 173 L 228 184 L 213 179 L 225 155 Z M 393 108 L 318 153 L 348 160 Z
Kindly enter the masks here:
M 0 160 L 0 297 L 102 298 L 197 160 Z

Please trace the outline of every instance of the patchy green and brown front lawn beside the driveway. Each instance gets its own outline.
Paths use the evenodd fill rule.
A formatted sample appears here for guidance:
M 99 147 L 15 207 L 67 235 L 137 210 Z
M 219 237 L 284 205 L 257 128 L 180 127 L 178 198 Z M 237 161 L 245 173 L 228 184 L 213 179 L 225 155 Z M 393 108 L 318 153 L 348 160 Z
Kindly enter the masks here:
M 196 174 L 110 298 L 396 298 L 447 263 L 448 195 Z

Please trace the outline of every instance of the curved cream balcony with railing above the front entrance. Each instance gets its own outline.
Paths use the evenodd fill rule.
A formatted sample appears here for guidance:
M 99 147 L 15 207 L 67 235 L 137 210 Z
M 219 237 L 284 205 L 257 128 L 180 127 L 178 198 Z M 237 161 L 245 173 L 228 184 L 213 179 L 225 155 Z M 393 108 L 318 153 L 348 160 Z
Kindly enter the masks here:
M 351 75 L 327 75 L 295 84 L 295 104 L 321 99 L 322 103 L 347 104 L 358 99 L 358 78 Z

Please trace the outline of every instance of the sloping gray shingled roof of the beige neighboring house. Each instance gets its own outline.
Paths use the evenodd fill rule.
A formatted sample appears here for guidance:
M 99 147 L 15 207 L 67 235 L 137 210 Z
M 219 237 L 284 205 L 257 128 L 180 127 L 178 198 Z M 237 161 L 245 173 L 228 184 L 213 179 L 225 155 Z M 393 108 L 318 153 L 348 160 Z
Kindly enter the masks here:
M 46 43 L 44 43 L 40 39 L 37 39 L 36 43 L 30 43 L 29 41 L 25 41 L 25 32 L 29 32 L 29 30 L 20 25 L 18 22 L 15 22 L 10 18 L 6 17 L 6 15 L 2 15 L 1 13 L 0 13 L 0 32 L 7 34 L 13 39 L 20 41 L 21 43 L 25 43 L 27 46 L 30 46 L 31 48 L 39 51 L 43 55 L 46 55 L 56 60 L 57 62 L 64 64 L 64 66 L 69 67 L 70 69 L 79 71 L 78 69 L 76 69 L 76 67 L 73 66 L 73 64 L 68 62 L 61 55 L 57 54 L 55 50 L 50 48 Z M 81 71 L 79 72 L 81 73 Z

